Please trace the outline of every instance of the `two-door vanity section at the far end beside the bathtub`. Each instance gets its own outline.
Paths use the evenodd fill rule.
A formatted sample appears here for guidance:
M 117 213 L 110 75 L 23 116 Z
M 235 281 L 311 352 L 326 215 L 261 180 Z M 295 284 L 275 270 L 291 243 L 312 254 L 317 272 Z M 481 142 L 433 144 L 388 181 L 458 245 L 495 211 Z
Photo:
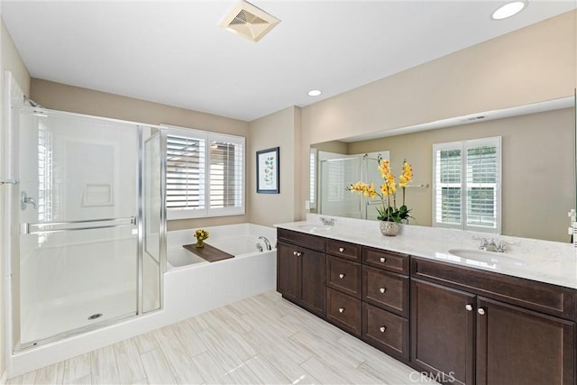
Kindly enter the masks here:
M 281 229 L 277 238 L 277 290 L 283 298 L 325 317 L 325 239 Z

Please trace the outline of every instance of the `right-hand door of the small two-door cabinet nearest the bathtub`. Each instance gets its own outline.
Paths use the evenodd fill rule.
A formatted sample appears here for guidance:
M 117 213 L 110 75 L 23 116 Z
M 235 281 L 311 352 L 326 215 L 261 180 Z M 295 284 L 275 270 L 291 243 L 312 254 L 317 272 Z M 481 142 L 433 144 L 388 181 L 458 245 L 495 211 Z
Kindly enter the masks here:
M 325 317 L 326 257 L 323 252 L 299 248 L 300 292 L 298 304 Z

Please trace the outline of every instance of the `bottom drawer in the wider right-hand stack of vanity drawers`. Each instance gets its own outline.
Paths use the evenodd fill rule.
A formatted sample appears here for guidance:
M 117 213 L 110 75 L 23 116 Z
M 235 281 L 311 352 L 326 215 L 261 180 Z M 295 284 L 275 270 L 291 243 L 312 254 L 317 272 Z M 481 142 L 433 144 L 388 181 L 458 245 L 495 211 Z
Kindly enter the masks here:
M 408 360 L 408 319 L 362 303 L 362 339 Z

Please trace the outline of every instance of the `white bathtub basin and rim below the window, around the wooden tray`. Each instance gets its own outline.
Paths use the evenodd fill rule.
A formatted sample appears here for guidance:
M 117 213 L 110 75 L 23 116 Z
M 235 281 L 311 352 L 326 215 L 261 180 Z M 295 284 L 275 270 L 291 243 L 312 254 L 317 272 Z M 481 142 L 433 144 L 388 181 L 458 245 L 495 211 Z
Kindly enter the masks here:
M 203 227 L 210 236 L 205 243 L 234 255 L 235 258 L 243 258 L 253 253 L 268 252 L 266 244 L 259 237 L 266 237 L 275 252 L 277 243 L 276 229 L 261 225 L 238 224 Z M 182 268 L 197 263 L 207 263 L 204 259 L 182 247 L 183 244 L 195 243 L 196 239 L 191 230 L 179 230 L 169 232 L 167 235 L 167 269 Z M 261 246 L 262 250 L 259 248 Z M 276 254 L 275 254 L 276 255 Z

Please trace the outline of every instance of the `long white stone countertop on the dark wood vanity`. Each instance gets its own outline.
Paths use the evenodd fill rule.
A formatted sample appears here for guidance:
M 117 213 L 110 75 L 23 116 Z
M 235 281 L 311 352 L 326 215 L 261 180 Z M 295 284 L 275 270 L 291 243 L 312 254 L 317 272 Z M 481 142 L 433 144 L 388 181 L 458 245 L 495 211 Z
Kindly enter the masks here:
M 334 225 L 322 225 L 321 216 L 334 219 Z M 416 225 L 401 225 L 397 236 L 384 236 L 380 234 L 379 223 L 376 221 L 312 214 L 307 215 L 307 221 L 275 226 L 577 289 L 577 249 L 572 243 Z M 474 259 L 459 257 L 449 252 L 455 249 L 478 251 L 481 238 L 493 238 L 497 243 L 503 241 L 507 251 L 484 252 L 484 256 Z

